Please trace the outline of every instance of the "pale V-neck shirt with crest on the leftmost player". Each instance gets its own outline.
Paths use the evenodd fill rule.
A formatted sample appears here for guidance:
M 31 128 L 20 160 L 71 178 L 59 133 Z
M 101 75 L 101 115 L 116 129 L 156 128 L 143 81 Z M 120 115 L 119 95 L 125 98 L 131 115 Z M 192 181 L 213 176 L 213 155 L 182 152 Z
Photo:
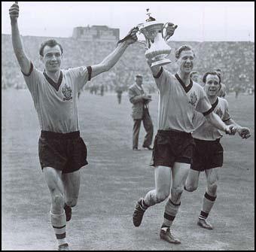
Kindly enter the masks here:
M 31 63 L 29 74 L 23 76 L 32 95 L 41 130 L 59 133 L 79 130 L 78 91 L 87 83 L 88 68 L 81 66 L 61 70 L 58 83 L 55 83 Z

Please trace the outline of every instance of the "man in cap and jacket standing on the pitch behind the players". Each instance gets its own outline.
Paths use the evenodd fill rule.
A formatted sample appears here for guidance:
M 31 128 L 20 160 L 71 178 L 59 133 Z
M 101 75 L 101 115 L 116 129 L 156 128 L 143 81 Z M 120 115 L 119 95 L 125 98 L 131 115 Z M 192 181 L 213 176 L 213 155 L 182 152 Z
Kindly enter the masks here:
M 143 121 L 143 126 L 146 131 L 144 143 L 142 147 L 146 150 L 152 150 L 151 142 L 153 138 L 153 123 L 148 112 L 148 102 L 151 102 L 151 96 L 145 94 L 142 88 L 142 75 L 136 75 L 136 83 L 129 88 L 129 99 L 133 103 L 133 150 L 140 150 L 138 148 L 139 129 Z

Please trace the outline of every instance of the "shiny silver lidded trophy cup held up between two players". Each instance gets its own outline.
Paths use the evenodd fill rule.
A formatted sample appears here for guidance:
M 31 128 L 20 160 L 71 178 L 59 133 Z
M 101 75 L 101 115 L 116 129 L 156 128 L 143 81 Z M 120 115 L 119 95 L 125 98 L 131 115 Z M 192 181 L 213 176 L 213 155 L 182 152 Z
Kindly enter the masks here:
M 167 44 L 167 39 L 170 36 L 165 29 L 168 23 L 157 22 L 154 17 L 151 17 L 149 9 L 147 9 L 147 12 L 148 19 L 146 23 L 138 25 L 139 33 L 145 36 L 146 43 L 142 41 L 139 41 L 139 43 L 145 44 L 145 57 L 151 59 L 151 66 L 169 64 L 171 60 L 166 59 L 166 56 L 171 53 L 172 48 Z

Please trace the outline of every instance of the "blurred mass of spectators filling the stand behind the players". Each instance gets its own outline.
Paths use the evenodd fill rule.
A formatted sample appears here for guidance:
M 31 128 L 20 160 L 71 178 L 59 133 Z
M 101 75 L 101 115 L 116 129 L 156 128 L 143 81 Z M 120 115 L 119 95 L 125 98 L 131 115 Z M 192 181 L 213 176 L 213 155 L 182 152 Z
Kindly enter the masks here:
M 46 37 L 23 37 L 23 47 L 33 64 L 40 70 L 38 49 Z M 80 65 L 93 65 L 102 61 L 116 47 L 111 42 L 76 41 L 73 38 L 56 38 L 63 47 L 62 68 L 77 67 Z M 169 71 L 176 70 L 174 53 L 181 44 L 189 44 L 194 48 L 196 60 L 194 69 L 202 76 L 206 71 L 220 68 L 222 81 L 227 92 L 236 90 L 239 86 L 241 92 L 254 92 L 254 42 L 195 42 L 170 41 L 172 53 L 169 58 L 172 63 L 166 65 Z M 145 47 L 136 43 L 128 47 L 120 61 L 110 71 L 93 78 L 84 87 L 85 90 L 99 90 L 104 85 L 105 91 L 114 92 L 118 86 L 126 91 L 134 82 L 136 74 L 142 74 L 145 88 L 149 93 L 157 91 L 154 78 L 149 71 L 145 60 Z M 2 88 L 24 88 L 25 83 L 20 73 L 14 51 L 11 46 L 11 35 L 2 35 Z

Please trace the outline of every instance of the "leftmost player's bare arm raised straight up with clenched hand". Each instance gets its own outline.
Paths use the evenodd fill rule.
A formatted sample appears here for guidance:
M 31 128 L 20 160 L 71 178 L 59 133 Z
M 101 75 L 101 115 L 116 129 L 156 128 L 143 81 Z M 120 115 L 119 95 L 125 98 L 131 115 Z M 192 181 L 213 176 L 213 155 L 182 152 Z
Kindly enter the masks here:
M 9 9 L 9 14 L 11 18 L 11 39 L 14 47 L 14 53 L 19 62 L 21 71 L 24 74 L 29 74 L 30 70 L 30 60 L 26 56 L 26 53 L 23 50 L 23 44 L 20 38 L 20 32 L 18 28 L 18 17 L 19 17 L 19 5 L 18 2 L 15 2 L 14 5 L 11 5 Z

